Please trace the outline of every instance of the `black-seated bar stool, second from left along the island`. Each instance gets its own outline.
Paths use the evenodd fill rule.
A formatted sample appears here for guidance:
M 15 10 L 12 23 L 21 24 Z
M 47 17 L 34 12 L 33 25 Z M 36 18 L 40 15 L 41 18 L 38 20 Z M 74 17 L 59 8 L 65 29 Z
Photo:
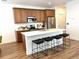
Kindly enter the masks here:
M 51 36 L 51 37 L 47 37 L 47 38 L 44 38 L 45 39 L 45 42 L 46 42 L 46 44 L 45 44 L 45 47 L 46 47 L 46 52 L 47 52 L 47 54 L 48 54 L 48 48 L 50 48 L 51 50 L 52 50 L 52 45 L 54 46 L 55 44 L 54 44 L 54 36 Z M 49 42 L 51 42 L 50 44 L 49 44 Z M 52 43 L 53 42 L 53 43 Z M 50 46 L 50 47 L 49 47 Z M 54 48 L 53 48 L 54 49 Z

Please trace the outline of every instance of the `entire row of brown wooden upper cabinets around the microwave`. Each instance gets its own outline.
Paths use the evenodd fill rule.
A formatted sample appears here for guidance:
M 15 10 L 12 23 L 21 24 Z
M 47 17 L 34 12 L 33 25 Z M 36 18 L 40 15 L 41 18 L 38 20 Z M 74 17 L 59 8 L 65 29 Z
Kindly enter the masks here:
M 55 16 L 55 10 L 13 8 L 15 23 L 26 23 L 27 17 L 36 17 L 38 22 L 46 21 L 46 17 Z

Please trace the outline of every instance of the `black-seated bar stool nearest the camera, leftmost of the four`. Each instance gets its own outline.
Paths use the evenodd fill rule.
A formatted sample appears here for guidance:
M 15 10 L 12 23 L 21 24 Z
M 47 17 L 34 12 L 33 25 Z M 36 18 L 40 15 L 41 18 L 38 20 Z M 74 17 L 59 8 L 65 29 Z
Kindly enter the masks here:
M 39 56 L 38 56 L 39 49 L 43 50 L 43 48 L 44 48 L 43 43 L 44 43 L 44 39 L 32 40 L 32 55 L 34 54 L 35 50 L 37 50 L 36 51 L 37 52 L 37 59 L 39 58 Z M 37 46 L 33 47 L 34 44 L 36 44 Z M 42 44 L 42 46 L 40 46 L 40 44 Z

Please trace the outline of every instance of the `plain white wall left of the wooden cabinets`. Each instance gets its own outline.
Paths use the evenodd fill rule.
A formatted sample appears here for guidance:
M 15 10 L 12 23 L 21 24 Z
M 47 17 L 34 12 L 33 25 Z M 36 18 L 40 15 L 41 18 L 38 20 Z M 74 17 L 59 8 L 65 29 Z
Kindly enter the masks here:
M 5 2 L 0 3 L 0 34 L 2 35 L 2 43 L 16 41 L 14 29 L 12 5 Z

